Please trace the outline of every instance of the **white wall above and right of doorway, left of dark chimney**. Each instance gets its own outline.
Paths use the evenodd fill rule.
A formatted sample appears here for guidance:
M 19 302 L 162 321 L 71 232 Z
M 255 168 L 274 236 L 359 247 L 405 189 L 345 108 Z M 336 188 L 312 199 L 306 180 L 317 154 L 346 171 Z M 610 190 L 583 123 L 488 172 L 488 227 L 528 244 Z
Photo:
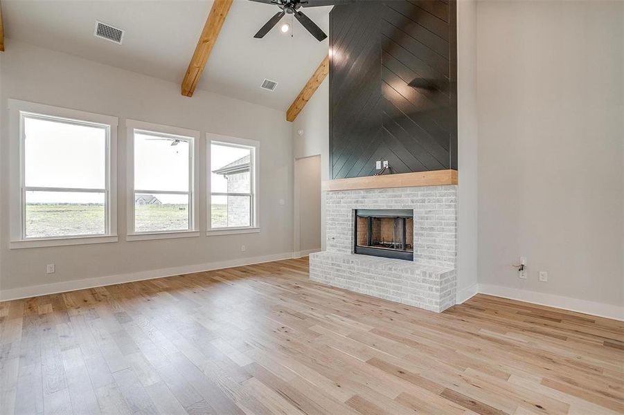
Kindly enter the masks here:
M 303 136 L 298 131 L 303 130 Z M 321 156 L 321 181 L 329 180 L 329 78 L 292 123 L 294 158 Z M 321 248 L 325 250 L 325 196 L 321 194 Z

